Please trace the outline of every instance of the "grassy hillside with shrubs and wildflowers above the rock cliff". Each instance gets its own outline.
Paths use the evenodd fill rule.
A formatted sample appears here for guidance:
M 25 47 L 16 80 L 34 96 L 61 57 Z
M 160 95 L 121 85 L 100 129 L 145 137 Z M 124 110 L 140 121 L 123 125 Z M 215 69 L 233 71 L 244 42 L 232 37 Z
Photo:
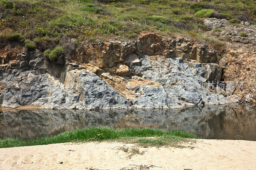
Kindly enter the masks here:
M 196 37 L 206 31 L 203 20 L 210 17 L 237 18 L 254 24 L 256 2 L 0 0 L 0 46 L 18 43 L 27 50 L 44 52 L 67 42 L 79 46 L 85 40 L 118 36 L 131 39 L 141 31 Z

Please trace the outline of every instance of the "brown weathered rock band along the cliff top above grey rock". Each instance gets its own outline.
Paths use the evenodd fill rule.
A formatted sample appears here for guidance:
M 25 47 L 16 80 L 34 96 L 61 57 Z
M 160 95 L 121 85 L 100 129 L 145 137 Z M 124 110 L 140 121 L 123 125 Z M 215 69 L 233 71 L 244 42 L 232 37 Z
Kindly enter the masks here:
M 217 61 L 215 50 L 206 44 L 195 44 L 184 37 L 165 39 L 155 33 L 142 34 L 137 41 L 90 42 L 80 48 L 78 52 L 73 60 L 80 63 L 92 63 L 100 68 L 111 68 L 122 63 L 131 53 L 149 56 L 162 55 L 167 58 L 179 56 L 196 59 L 201 63 Z

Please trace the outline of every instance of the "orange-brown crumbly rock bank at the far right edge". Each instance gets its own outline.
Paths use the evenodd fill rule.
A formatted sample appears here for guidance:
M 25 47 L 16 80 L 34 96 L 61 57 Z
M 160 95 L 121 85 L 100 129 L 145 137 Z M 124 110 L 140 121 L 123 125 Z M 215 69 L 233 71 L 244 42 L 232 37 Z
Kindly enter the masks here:
M 230 25 L 226 19 L 216 18 L 205 19 L 204 24 L 218 28 L 218 31 L 209 31 L 209 34 L 225 42 L 225 50 L 219 60 L 222 79 L 227 84 L 243 82 L 242 88 L 236 88 L 236 83 L 231 83 L 226 92 L 228 95 L 236 94 L 246 102 L 256 102 L 256 26 L 244 21 Z

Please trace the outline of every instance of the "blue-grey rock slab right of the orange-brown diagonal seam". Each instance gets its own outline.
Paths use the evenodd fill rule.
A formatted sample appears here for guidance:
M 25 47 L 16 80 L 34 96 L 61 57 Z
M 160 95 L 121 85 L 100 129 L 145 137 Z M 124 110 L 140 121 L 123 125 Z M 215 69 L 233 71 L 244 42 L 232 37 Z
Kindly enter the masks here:
M 218 64 L 188 61 L 180 57 L 158 62 L 145 56 L 141 60 L 142 69 L 136 66 L 132 67 L 133 70 L 140 70 L 140 76 L 143 75 L 145 79 L 161 85 L 137 86 L 134 93 L 140 95 L 131 99 L 135 108 L 173 108 L 235 102 L 223 96 L 223 89 L 220 92 L 220 89 L 214 86 L 221 76 L 221 67 Z M 134 71 L 132 73 L 137 74 Z M 211 91 L 216 90 L 215 93 L 209 91 L 207 82 L 212 83 Z

